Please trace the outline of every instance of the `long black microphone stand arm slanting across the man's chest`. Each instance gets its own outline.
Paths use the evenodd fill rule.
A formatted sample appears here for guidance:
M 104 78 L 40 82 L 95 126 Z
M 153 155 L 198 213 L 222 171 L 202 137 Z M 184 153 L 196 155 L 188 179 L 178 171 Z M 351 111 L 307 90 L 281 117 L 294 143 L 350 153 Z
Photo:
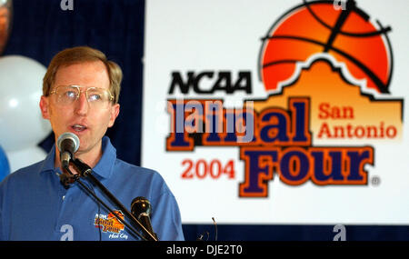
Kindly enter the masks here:
M 101 182 L 98 181 L 98 179 L 95 178 L 93 173 L 93 170 L 91 169 L 91 167 L 88 164 L 83 163 L 80 159 L 71 159 L 70 162 L 72 162 L 76 169 L 79 171 L 80 175 L 83 177 L 88 178 L 93 184 L 95 184 L 96 186 L 98 186 L 101 191 L 103 192 L 103 194 L 106 195 L 106 197 L 113 203 L 115 204 L 120 210 L 121 212 L 123 212 L 125 214 L 125 216 L 136 226 L 138 226 L 139 228 L 142 229 L 142 231 L 144 232 L 145 236 L 148 238 L 149 241 L 158 241 L 158 239 L 155 237 L 155 235 L 151 234 L 143 224 L 141 224 L 133 214 L 131 214 L 123 204 L 121 204 L 121 202 L 119 202 L 114 194 L 111 194 L 108 189 L 105 188 L 105 186 L 103 184 L 101 184 Z M 67 169 L 68 166 L 65 168 Z M 69 172 L 69 171 L 68 171 Z M 70 172 L 71 173 L 71 172 Z M 79 180 L 78 177 L 76 177 L 76 180 Z M 86 187 L 85 184 L 83 184 L 81 181 L 77 181 L 78 183 L 81 184 L 81 186 L 83 186 L 85 188 L 85 190 L 88 191 L 88 193 L 92 194 L 95 199 L 100 203 L 103 204 L 105 206 L 106 209 L 109 210 L 110 213 L 114 214 L 115 217 L 123 224 L 125 224 L 130 230 L 132 230 L 132 232 L 135 232 L 135 234 L 137 234 L 140 238 L 142 238 L 142 240 L 147 241 L 147 239 L 142 235 L 139 234 L 137 231 L 135 231 L 135 229 L 133 227 L 131 227 L 129 224 L 127 224 L 125 222 L 125 220 L 123 220 L 119 215 L 117 215 L 112 209 L 110 209 L 101 199 L 99 199 L 94 192 L 92 192 L 91 190 L 89 190 L 88 187 Z

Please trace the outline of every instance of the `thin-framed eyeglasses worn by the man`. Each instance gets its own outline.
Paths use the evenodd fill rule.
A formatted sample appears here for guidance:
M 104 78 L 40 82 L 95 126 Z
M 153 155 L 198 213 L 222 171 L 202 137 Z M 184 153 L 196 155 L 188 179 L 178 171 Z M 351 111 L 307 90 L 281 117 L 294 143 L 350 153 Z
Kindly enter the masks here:
M 72 105 L 79 98 L 81 92 L 85 91 L 86 100 L 88 105 L 92 108 L 106 109 L 109 103 L 114 100 L 114 96 L 111 95 L 109 90 L 99 87 L 88 87 L 85 90 L 81 90 L 84 86 L 80 85 L 59 85 L 55 87 L 50 95 L 56 96 L 57 105 Z

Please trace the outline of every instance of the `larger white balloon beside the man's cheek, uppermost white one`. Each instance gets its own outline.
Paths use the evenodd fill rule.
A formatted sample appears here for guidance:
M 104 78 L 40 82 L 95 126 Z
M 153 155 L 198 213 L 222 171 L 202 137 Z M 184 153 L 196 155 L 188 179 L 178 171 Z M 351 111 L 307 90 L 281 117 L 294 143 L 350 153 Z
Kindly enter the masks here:
M 39 107 L 45 72 L 34 59 L 0 57 L 0 144 L 6 153 L 35 146 L 51 131 Z

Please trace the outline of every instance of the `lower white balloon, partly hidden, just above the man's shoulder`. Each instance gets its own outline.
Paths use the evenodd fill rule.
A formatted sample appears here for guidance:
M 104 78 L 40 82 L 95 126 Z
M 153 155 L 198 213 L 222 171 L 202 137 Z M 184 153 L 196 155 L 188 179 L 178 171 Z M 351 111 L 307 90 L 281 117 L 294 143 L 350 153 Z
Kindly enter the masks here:
M 35 164 L 36 162 L 45 159 L 46 153 L 39 146 L 31 146 L 17 151 L 5 152 L 7 154 L 8 162 L 10 164 L 10 173 L 16 170 Z

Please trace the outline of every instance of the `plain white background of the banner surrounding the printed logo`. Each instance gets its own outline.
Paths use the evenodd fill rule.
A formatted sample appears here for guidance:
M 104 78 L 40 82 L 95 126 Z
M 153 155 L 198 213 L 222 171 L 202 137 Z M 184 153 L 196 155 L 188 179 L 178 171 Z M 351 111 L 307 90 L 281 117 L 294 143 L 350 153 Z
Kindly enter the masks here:
M 409 224 L 408 108 L 404 102 L 402 138 L 391 142 L 371 139 L 349 146 L 371 145 L 374 165 L 366 164 L 368 183 L 364 185 L 319 186 L 311 180 L 300 185 L 284 184 L 278 174 L 268 182 L 265 197 L 240 197 L 244 182 L 244 160 L 239 146 L 195 146 L 193 151 L 166 151 L 171 117 L 168 99 L 223 99 L 224 108 L 243 107 L 245 100 L 267 98 L 258 79 L 261 38 L 274 22 L 299 0 L 149 0 L 145 13 L 144 114 L 142 165 L 162 174 L 174 192 L 184 224 L 210 224 L 212 216 L 223 224 Z M 357 5 L 371 20 L 390 25 L 389 39 L 394 52 L 394 75 L 390 95 L 409 95 L 409 2 L 359 0 Z M 241 71 L 251 72 L 252 94 L 244 91 L 226 95 L 168 94 L 172 73 L 229 71 L 235 82 Z M 186 78 L 184 77 L 184 80 Z M 214 80 L 204 80 L 209 89 Z M 206 85 L 207 84 L 207 85 Z M 379 96 L 376 96 L 378 98 Z M 324 140 L 313 144 L 325 143 Z M 185 160 L 193 167 L 203 159 L 218 160 L 225 166 L 234 161 L 234 178 L 223 174 L 214 179 L 182 178 Z M 203 165 L 203 164 L 201 164 Z M 200 167 L 200 166 L 199 166 Z

